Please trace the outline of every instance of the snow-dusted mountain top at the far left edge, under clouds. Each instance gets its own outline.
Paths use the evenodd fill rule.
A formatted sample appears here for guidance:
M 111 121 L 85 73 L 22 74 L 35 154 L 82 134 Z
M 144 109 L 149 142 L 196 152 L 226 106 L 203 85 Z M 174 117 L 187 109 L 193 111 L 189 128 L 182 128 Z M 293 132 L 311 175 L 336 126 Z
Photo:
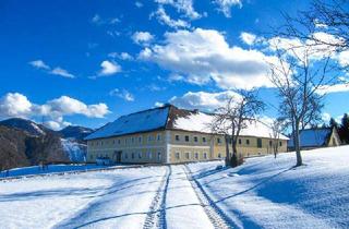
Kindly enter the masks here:
M 50 133 L 53 132 L 52 130 L 41 124 L 37 124 L 31 120 L 21 119 L 21 118 L 12 118 L 12 119 L 0 121 L 0 125 L 22 130 L 27 132 L 29 135 L 34 135 L 34 136 L 43 136 L 47 132 L 50 132 Z

